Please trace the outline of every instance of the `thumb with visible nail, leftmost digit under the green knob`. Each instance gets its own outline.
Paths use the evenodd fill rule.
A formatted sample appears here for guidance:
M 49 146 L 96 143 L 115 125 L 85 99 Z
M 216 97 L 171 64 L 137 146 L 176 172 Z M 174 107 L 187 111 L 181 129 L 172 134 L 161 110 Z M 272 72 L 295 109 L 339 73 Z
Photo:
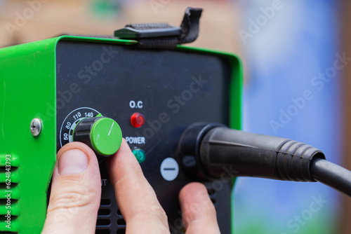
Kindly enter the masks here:
M 58 151 L 42 234 L 95 233 L 101 181 L 95 153 L 73 142 Z

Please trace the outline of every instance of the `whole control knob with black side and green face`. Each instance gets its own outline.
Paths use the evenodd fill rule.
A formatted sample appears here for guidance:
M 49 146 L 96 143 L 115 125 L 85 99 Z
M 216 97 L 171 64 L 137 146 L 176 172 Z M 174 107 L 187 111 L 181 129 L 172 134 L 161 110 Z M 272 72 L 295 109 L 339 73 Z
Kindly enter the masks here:
M 111 156 L 121 146 L 122 132 L 112 118 L 83 118 L 74 128 L 73 141 L 87 144 L 100 156 Z

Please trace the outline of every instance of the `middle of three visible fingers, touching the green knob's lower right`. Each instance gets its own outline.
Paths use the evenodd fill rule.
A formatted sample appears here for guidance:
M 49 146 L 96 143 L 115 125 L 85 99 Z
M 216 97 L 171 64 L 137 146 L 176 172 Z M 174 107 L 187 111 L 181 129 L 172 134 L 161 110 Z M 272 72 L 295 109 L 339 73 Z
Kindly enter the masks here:
M 126 220 L 126 233 L 169 233 L 166 213 L 125 139 L 107 159 L 107 169 Z

